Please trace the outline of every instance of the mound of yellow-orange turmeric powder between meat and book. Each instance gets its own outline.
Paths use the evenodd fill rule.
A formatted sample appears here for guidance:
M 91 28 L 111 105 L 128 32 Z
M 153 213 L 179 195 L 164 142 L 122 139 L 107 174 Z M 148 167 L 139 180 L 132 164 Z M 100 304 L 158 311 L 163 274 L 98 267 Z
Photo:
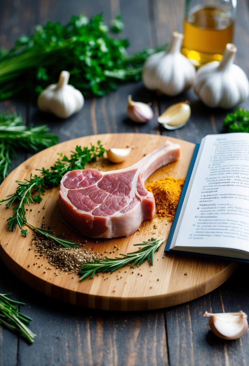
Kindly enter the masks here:
M 183 189 L 184 178 L 166 177 L 149 183 L 146 189 L 153 193 L 156 203 L 156 215 L 166 217 L 169 222 L 172 222 L 177 205 Z

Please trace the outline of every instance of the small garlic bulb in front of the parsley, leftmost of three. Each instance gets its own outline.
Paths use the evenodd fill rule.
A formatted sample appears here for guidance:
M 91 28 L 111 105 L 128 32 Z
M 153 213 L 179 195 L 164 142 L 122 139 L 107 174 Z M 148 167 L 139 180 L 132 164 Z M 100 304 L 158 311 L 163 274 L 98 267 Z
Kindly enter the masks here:
M 40 94 L 37 104 L 43 112 L 67 118 L 83 107 L 84 97 L 74 86 L 68 85 L 69 76 L 68 71 L 61 71 L 58 83 L 47 86 Z

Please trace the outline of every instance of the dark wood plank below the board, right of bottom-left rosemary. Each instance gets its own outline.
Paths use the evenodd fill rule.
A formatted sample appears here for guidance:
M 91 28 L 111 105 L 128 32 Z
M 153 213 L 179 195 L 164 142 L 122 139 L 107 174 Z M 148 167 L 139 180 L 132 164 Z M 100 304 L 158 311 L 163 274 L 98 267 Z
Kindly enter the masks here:
M 22 288 L 37 337 L 20 341 L 19 365 L 168 365 L 163 311 L 94 311 Z

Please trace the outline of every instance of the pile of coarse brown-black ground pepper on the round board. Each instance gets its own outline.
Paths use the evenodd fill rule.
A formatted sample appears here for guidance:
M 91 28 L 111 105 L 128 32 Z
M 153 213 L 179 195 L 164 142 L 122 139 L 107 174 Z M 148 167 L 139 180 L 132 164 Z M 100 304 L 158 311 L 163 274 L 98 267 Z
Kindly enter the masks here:
M 81 263 L 93 262 L 93 259 L 105 259 L 102 253 L 83 249 L 82 244 L 79 244 L 78 248 L 64 248 L 37 232 L 33 233 L 31 249 L 34 249 L 40 257 L 47 258 L 51 266 L 69 273 L 77 273 Z

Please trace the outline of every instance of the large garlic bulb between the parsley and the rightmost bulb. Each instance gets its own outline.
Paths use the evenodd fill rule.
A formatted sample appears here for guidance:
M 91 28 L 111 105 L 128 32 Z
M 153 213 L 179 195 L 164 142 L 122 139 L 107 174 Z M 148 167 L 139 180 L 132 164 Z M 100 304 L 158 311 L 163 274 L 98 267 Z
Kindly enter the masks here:
M 175 96 L 193 85 L 196 71 L 191 61 L 181 54 L 183 37 L 173 32 L 168 50 L 148 57 L 143 67 L 143 82 L 148 89 Z

